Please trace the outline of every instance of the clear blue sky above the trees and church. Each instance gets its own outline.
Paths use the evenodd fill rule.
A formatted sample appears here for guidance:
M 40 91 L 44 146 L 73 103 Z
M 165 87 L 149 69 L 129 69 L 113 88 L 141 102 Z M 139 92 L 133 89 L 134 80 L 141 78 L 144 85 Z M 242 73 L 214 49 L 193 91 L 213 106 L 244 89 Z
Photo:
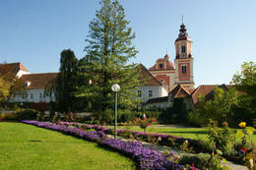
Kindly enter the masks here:
M 57 72 L 60 52 L 85 56 L 89 24 L 98 0 L 0 0 L 0 63 L 21 62 L 32 73 Z M 136 33 L 136 63 L 147 68 L 167 51 L 181 16 L 193 39 L 197 85 L 228 84 L 245 61 L 256 62 L 255 0 L 126 0 L 126 19 Z

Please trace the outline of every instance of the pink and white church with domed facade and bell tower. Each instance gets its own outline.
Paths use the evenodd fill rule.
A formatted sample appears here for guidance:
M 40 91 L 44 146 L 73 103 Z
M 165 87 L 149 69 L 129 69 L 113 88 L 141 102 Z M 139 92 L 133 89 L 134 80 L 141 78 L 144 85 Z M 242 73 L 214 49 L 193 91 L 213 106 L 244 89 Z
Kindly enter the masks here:
M 179 34 L 174 42 L 175 59 L 174 63 L 169 61 L 166 54 L 159 58 L 156 64 L 150 68 L 150 72 L 160 83 L 167 86 L 171 91 L 176 85 L 194 87 L 192 39 L 188 36 L 187 29 L 182 22 Z

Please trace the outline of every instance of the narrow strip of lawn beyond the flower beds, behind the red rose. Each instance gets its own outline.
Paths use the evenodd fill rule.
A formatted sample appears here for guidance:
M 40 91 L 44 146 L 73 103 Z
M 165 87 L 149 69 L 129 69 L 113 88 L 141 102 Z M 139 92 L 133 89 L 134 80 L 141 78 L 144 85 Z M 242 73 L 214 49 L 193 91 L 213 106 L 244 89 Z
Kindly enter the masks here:
M 118 129 L 128 129 L 133 131 L 141 131 L 143 130 L 138 126 L 127 126 L 122 127 L 118 126 Z M 233 130 L 236 132 L 236 130 Z M 169 134 L 175 137 L 183 137 L 194 140 L 203 140 L 207 141 L 207 129 L 204 128 L 173 128 L 173 127 L 164 127 L 164 126 L 150 126 L 147 128 L 148 133 L 156 133 L 156 134 Z M 256 134 L 252 136 L 253 142 L 256 144 Z

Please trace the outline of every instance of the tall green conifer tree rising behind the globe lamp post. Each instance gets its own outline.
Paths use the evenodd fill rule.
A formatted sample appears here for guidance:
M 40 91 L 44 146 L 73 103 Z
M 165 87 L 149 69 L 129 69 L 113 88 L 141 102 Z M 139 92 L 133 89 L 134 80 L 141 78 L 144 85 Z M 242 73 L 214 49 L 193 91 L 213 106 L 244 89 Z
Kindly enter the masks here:
M 104 111 L 113 106 L 111 85 L 118 84 L 119 106 L 132 107 L 141 85 L 136 65 L 128 64 L 138 53 L 132 44 L 135 33 L 117 0 L 102 0 L 100 5 L 86 39 L 87 55 L 80 62 L 81 75 L 88 84 L 79 87 L 78 96 L 86 96 L 96 110 Z

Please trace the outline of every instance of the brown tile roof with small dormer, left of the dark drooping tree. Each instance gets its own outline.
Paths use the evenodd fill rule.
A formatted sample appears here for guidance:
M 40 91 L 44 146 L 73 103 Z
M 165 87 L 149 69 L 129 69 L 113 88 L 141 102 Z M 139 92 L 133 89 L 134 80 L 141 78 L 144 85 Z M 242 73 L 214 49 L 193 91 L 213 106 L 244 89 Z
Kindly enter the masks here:
M 31 85 L 26 86 L 27 89 L 39 89 L 44 88 L 49 81 L 56 78 L 58 73 L 41 73 L 41 74 L 30 74 L 23 75 L 22 80 L 26 82 L 30 82 Z

